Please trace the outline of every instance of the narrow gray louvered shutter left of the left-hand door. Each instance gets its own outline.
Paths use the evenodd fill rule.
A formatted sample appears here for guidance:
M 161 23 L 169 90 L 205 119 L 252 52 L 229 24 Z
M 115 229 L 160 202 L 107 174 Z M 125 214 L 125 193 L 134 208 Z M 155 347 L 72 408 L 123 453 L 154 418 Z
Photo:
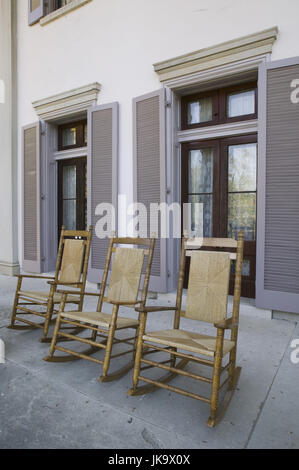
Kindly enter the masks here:
M 23 270 L 41 272 L 40 124 L 23 127 Z

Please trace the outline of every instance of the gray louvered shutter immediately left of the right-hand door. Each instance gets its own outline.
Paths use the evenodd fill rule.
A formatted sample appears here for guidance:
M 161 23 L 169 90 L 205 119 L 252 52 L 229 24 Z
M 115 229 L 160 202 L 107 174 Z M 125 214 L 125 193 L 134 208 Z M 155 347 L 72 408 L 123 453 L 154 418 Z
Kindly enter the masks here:
M 164 88 L 133 100 L 134 201 L 150 204 L 166 202 L 165 90 Z M 150 289 L 167 290 L 166 239 L 160 227 L 152 264 Z

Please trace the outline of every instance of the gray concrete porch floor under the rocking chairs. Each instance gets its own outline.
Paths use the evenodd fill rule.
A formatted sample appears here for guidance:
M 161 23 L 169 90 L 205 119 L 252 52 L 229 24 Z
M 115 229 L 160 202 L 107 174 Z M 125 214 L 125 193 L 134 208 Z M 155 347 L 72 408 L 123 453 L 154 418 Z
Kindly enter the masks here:
M 290 360 L 298 324 L 272 320 L 270 312 L 242 301 L 237 359 L 242 372 L 226 415 L 210 429 L 205 403 L 166 390 L 128 397 L 132 372 L 104 384 L 95 363 L 43 361 L 49 345 L 38 341 L 40 331 L 5 328 L 15 287 L 16 278 L 0 276 L 0 338 L 6 348 L 6 363 L 0 364 L 0 448 L 299 448 L 299 364 Z M 25 280 L 24 287 L 32 284 Z M 44 289 L 43 281 L 35 282 L 34 290 Z M 173 300 L 172 294 L 159 295 L 148 304 Z M 95 299 L 86 305 L 94 308 Z M 149 330 L 171 325 L 171 313 L 149 316 Z M 182 326 L 194 328 L 184 319 Z M 200 331 L 211 328 L 202 324 Z M 173 384 L 182 387 L 184 380 Z M 190 386 L 205 391 L 203 383 Z

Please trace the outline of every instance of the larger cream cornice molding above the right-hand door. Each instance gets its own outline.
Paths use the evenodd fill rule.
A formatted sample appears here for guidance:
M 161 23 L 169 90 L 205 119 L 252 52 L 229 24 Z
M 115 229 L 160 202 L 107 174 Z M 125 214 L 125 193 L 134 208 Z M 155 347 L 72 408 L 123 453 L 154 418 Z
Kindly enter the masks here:
M 233 62 L 263 56 L 272 52 L 278 28 L 270 28 L 216 46 L 154 64 L 160 81 L 175 79 Z

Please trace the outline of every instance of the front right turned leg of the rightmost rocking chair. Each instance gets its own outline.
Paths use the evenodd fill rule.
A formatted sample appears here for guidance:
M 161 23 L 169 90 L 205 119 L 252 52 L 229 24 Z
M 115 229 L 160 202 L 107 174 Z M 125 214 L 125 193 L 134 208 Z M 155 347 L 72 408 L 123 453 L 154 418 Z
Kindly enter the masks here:
M 223 351 L 223 340 L 224 340 L 224 330 L 221 328 L 217 329 L 217 339 L 216 339 L 216 352 L 214 358 L 214 369 L 213 369 L 213 379 L 212 379 L 212 391 L 211 391 L 211 413 L 208 419 L 208 426 L 214 427 L 216 424 L 216 415 L 218 409 L 219 401 L 219 386 L 220 386 L 220 375 L 221 375 L 221 365 L 222 365 L 222 351 Z

